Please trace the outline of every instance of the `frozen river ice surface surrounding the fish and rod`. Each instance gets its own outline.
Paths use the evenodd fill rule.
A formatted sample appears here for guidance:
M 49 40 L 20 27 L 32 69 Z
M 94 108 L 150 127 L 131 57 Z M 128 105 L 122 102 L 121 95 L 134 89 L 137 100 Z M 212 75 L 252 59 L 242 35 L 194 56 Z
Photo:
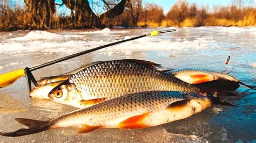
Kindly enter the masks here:
M 0 33 L 0 74 L 84 51 L 110 42 L 150 32 L 150 28 L 102 31 L 12 31 Z M 165 30 L 165 28 L 159 28 Z M 37 79 L 58 75 L 85 63 L 102 60 L 141 59 L 164 67 L 198 67 L 230 75 L 256 85 L 256 27 L 177 28 L 177 32 L 145 37 L 79 56 L 33 71 Z M 230 55 L 230 64 L 225 65 Z M 213 105 L 190 118 L 138 130 L 104 128 L 79 134 L 73 128 L 44 131 L 23 137 L 0 136 L 16 141 L 256 141 L 256 91 L 240 86 L 239 97 L 229 101 L 239 107 Z M 48 100 L 29 98 L 25 78 L 0 89 L 0 132 L 24 128 L 14 118 L 47 120 L 76 110 Z

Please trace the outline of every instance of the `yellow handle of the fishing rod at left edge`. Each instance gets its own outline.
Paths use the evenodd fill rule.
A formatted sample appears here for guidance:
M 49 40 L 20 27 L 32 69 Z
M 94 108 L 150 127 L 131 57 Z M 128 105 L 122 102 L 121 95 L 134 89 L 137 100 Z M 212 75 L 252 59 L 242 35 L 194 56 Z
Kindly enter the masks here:
M 0 88 L 4 88 L 4 87 L 7 87 L 8 85 L 11 85 L 15 81 L 17 81 L 19 77 L 22 77 L 23 75 L 25 75 L 24 69 L 18 69 L 18 70 L 0 75 Z

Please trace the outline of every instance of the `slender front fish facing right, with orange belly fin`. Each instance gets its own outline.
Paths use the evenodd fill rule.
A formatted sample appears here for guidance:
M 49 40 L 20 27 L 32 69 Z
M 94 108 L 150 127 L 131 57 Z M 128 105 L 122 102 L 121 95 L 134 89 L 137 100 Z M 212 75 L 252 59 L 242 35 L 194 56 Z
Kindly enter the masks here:
M 29 128 L 0 132 L 0 135 L 18 137 L 63 127 L 75 127 L 80 133 L 98 128 L 145 128 L 188 118 L 209 106 L 210 98 L 193 92 L 144 91 L 113 98 L 46 121 L 16 118 Z

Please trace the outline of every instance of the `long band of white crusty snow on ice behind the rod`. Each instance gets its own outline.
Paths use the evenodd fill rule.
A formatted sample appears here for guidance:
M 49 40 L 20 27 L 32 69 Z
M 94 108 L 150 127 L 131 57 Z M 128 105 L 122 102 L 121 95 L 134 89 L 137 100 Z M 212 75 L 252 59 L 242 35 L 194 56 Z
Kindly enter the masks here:
M 97 32 L 97 31 L 95 31 Z M 101 32 L 101 31 L 100 31 Z M 105 28 L 103 32 L 109 32 L 109 29 Z M 124 32 L 118 31 L 117 33 Z M 92 40 L 82 41 L 69 40 L 59 42 L 58 39 L 66 38 L 79 38 L 82 35 L 73 34 L 71 35 L 59 35 L 46 31 L 31 31 L 23 37 L 16 37 L 5 40 L 0 43 L 0 50 L 2 52 L 63 52 L 63 53 L 74 53 L 83 51 L 85 49 L 110 44 L 111 42 L 105 40 Z M 84 36 L 86 38 L 86 35 Z M 83 38 L 83 37 L 82 37 Z M 130 36 L 120 37 L 119 40 L 129 39 Z M 53 40 L 54 39 L 54 40 Z M 170 42 L 169 39 L 159 39 L 157 37 L 144 37 L 134 41 L 125 42 L 122 45 L 113 46 L 111 48 L 105 48 L 100 50 L 101 52 L 133 52 L 133 51 L 170 51 L 170 50 L 198 50 L 205 49 L 210 44 L 214 44 L 212 37 L 201 37 L 194 40 L 176 38 Z M 144 45 L 144 46 L 142 46 Z

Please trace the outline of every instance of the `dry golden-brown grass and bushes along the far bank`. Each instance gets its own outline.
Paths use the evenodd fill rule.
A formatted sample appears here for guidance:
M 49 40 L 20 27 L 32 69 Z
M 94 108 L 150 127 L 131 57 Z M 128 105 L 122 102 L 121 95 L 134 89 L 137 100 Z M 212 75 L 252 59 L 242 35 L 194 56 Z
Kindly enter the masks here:
M 236 6 L 226 6 L 213 13 L 207 13 L 206 8 L 198 9 L 195 4 L 189 5 L 177 4 L 167 13 L 163 14 L 163 8 L 150 4 L 147 9 L 140 12 L 137 26 L 147 27 L 192 27 L 192 26 L 256 26 L 256 9 L 243 8 L 238 9 Z M 49 23 L 46 24 L 47 9 L 42 7 L 39 15 L 36 11 L 29 11 L 23 8 L 9 9 L 4 5 L 0 13 L 0 31 L 12 30 L 45 30 L 46 28 L 54 29 L 79 29 L 90 27 L 90 20 L 83 20 L 80 13 L 76 19 L 70 16 L 59 16 L 55 13 L 50 17 Z M 181 13 L 181 14 L 179 14 Z M 103 19 L 103 22 L 111 26 L 134 26 L 134 15 L 130 11 L 123 12 L 122 15 L 114 19 Z M 145 23 L 146 22 L 146 23 Z

